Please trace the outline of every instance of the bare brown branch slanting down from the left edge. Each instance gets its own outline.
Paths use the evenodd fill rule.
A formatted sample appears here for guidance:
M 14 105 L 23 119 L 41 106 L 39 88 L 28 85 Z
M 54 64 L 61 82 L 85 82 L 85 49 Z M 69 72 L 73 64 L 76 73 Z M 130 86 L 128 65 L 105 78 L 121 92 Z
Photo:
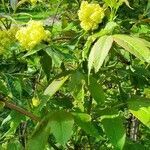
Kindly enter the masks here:
M 21 108 L 19 106 L 16 106 L 15 104 L 13 104 L 12 102 L 8 102 L 7 100 L 4 99 L 0 99 L 1 102 L 3 102 L 5 104 L 5 107 L 8 107 L 10 109 L 13 109 L 27 117 L 29 117 L 30 119 L 39 122 L 41 119 L 38 116 L 35 116 L 34 114 L 32 114 L 31 112 L 28 112 L 27 110 L 25 110 L 24 108 Z

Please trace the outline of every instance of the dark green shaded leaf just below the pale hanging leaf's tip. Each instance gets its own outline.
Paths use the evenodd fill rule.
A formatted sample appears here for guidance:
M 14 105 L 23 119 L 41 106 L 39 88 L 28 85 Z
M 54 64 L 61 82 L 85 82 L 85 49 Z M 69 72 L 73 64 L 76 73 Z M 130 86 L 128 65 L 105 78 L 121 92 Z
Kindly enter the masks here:
M 88 84 L 88 89 L 98 104 L 104 103 L 106 100 L 102 86 L 93 77 L 90 77 L 90 82 Z

